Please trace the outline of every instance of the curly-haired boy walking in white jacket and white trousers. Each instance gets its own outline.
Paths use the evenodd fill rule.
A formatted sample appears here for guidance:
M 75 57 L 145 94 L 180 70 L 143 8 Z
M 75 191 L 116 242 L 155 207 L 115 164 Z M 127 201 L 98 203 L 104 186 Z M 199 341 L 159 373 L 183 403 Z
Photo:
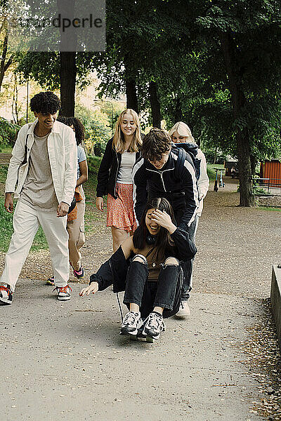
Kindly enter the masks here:
M 15 283 L 41 225 L 51 253 L 58 300 L 70 300 L 67 212 L 77 178 L 72 129 L 55 121 L 60 100 L 41 92 L 30 101 L 36 120 L 20 128 L 6 180 L 5 208 L 13 212 L 13 236 L 0 279 L 0 304 L 11 304 Z M 15 189 L 15 185 L 17 185 Z

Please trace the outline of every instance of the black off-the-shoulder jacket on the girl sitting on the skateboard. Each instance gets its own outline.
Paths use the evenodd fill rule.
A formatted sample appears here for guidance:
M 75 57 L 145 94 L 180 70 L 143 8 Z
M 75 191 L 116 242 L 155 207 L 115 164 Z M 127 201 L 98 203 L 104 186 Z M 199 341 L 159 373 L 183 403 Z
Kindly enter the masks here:
M 175 246 L 166 250 L 166 258 L 174 257 L 181 262 L 192 259 L 197 253 L 195 244 L 189 239 L 188 233 L 181 228 L 177 228 L 171 239 Z M 90 283 L 98 282 L 98 290 L 105 290 L 113 284 L 113 292 L 119 293 L 125 290 L 126 274 L 129 268 L 130 258 L 125 259 L 122 247 L 120 246 L 115 253 L 103 265 L 98 272 L 90 276 Z

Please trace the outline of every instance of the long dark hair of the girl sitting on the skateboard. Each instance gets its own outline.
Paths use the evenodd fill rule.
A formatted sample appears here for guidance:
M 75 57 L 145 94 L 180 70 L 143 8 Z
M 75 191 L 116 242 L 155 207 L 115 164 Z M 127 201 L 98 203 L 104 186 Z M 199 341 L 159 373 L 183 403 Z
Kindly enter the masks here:
M 157 197 L 155 199 L 150 199 L 148 203 L 145 205 L 145 209 L 143 210 L 143 216 L 141 218 L 141 223 L 136 231 L 133 233 L 133 246 L 138 248 L 139 250 L 145 248 L 148 245 L 147 239 L 148 236 L 151 235 L 148 231 L 148 228 L 145 225 L 145 217 L 149 209 L 159 209 L 162 212 L 165 210 L 171 216 L 171 221 L 174 225 L 176 225 L 176 220 L 174 217 L 173 209 L 169 201 L 164 199 L 164 197 Z M 174 246 L 174 241 L 171 239 L 171 235 L 169 231 L 164 228 L 160 227 L 158 234 L 155 236 L 155 258 L 157 260 L 164 260 L 166 251 L 171 249 Z

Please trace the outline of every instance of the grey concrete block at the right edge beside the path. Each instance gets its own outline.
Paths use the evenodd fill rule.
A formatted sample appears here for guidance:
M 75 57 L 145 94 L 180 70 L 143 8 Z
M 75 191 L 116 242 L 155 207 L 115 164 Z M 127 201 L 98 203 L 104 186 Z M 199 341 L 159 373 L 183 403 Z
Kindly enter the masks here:
M 277 265 L 273 265 L 270 300 L 277 328 L 278 343 L 281 349 L 281 269 Z

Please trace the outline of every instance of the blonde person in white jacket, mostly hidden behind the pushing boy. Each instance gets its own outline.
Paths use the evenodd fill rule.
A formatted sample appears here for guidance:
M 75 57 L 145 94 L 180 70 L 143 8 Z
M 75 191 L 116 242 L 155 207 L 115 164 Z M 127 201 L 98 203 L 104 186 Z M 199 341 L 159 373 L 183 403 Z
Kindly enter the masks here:
M 197 214 L 195 219 L 190 224 L 188 228 L 188 234 L 190 240 L 195 243 L 195 235 L 197 232 L 199 218 L 202 215 L 203 210 L 203 199 L 207 195 L 209 190 L 209 177 L 207 175 L 207 162 L 206 158 L 201 149 L 197 147 L 197 144 L 192 136 L 190 128 L 187 124 L 183 123 L 183 121 L 178 121 L 171 130 L 169 131 L 169 135 L 171 136 L 172 142 L 176 144 L 176 146 L 181 147 L 183 143 L 188 145 L 188 149 L 190 149 L 190 154 L 192 154 L 195 160 L 200 161 L 199 168 L 200 172 L 197 174 L 197 184 L 198 184 L 198 192 L 199 192 L 199 208 L 197 209 Z M 182 145 L 183 146 L 183 145 Z M 186 151 L 187 149 L 185 149 Z M 192 260 L 190 261 L 190 268 L 188 270 L 188 275 L 185 272 L 185 281 L 183 282 L 183 291 L 182 291 L 182 300 L 183 305 L 181 306 L 179 312 L 176 314 L 178 317 L 188 317 L 190 316 L 190 309 L 188 307 L 188 298 L 189 298 L 189 290 L 192 288 Z

